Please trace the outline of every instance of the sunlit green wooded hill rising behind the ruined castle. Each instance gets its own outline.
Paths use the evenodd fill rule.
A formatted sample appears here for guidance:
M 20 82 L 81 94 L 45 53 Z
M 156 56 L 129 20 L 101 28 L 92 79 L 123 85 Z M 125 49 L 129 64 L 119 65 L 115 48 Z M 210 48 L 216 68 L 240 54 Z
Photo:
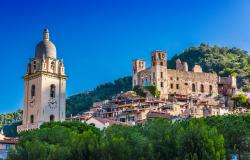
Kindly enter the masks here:
M 201 44 L 175 55 L 168 62 L 169 68 L 175 68 L 178 58 L 188 63 L 189 70 L 199 64 L 206 72 L 216 72 L 220 76 L 236 76 L 239 87 L 245 91 L 250 90 L 250 56 L 244 50 Z

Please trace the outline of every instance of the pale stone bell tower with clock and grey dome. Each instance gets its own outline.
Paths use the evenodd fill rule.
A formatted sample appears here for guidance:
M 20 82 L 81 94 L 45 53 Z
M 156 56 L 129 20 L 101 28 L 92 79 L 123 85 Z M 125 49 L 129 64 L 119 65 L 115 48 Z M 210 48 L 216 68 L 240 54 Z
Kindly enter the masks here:
M 43 122 L 65 120 L 66 79 L 62 60 L 56 57 L 56 47 L 49 31 L 37 44 L 24 76 L 23 124 L 18 131 L 39 128 Z

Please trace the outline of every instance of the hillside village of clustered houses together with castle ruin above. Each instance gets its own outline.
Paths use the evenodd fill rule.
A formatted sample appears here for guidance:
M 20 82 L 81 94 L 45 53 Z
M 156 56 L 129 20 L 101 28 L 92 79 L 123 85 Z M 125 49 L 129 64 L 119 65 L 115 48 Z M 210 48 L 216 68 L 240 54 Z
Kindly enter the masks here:
M 235 77 L 204 73 L 199 65 L 189 71 L 188 64 L 180 59 L 175 70 L 168 69 L 166 57 L 163 51 L 153 51 L 149 68 L 144 60 L 134 60 L 133 91 L 96 102 L 88 112 L 66 120 L 79 120 L 102 129 L 114 123 L 134 125 L 155 117 L 175 121 L 247 111 L 233 109 L 234 101 L 229 98 L 237 93 Z

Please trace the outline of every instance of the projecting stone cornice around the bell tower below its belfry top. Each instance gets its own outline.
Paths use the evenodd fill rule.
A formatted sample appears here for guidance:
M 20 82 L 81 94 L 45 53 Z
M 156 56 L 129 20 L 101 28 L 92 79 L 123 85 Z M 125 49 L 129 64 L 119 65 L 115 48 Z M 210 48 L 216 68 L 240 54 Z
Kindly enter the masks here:
M 68 76 L 67 75 L 60 75 L 60 74 L 56 74 L 56 73 L 50 73 L 50 72 L 47 72 L 47 71 L 37 71 L 36 73 L 33 73 L 33 74 L 27 74 L 25 76 L 23 76 L 23 79 L 24 80 L 30 80 L 30 79 L 34 79 L 34 78 L 37 78 L 37 77 L 41 77 L 41 76 L 49 76 L 49 77 L 54 77 L 54 78 L 60 78 L 60 79 L 68 79 Z

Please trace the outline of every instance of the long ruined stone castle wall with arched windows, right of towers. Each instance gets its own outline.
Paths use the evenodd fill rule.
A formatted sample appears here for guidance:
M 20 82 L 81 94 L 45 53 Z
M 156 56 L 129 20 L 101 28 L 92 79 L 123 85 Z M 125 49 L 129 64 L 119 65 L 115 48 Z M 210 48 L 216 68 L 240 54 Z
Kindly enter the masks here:
M 168 69 L 167 72 L 169 94 L 218 94 L 218 76 L 216 74 L 172 69 Z

